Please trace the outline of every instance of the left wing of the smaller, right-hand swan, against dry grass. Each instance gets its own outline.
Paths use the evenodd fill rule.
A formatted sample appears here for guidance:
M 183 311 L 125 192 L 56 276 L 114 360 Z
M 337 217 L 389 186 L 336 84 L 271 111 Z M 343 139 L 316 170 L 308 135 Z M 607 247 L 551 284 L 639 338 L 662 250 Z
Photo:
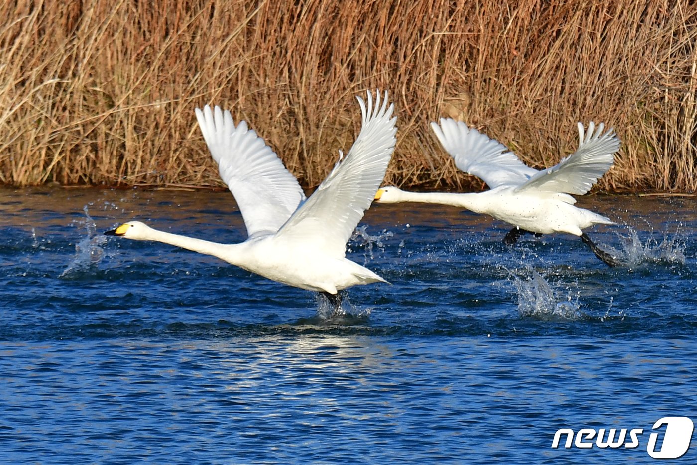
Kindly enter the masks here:
M 441 118 L 441 125 L 434 121 L 431 128 L 457 168 L 480 177 L 490 189 L 517 186 L 537 173 L 501 142 L 469 128 L 462 121 Z

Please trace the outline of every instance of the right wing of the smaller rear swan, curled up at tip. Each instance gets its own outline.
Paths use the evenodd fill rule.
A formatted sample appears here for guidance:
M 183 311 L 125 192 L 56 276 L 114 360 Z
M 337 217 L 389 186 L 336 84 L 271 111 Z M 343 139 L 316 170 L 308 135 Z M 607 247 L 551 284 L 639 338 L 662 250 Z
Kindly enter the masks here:
M 603 133 L 605 125 L 590 121 L 588 133 L 579 123 L 579 148 L 551 168 L 542 170 L 519 186 L 516 191 L 536 189 L 545 192 L 560 192 L 583 195 L 615 162 L 615 152 L 620 149 L 620 140 L 613 129 Z

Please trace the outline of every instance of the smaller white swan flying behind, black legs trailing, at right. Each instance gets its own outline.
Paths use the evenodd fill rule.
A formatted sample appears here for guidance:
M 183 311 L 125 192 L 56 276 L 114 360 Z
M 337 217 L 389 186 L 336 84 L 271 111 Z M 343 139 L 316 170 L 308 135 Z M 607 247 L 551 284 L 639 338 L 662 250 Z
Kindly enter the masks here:
M 514 244 L 525 232 L 535 235 L 568 232 L 581 237 L 595 255 L 610 266 L 618 265 L 615 257 L 592 242 L 583 229 L 594 224 L 614 224 L 605 216 L 574 207 L 569 194 L 583 195 L 613 165 L 620 140 L 610 129 L 597 131 L 591 121 L 588 133 L 579 123 L 579 148 L 558 165 L 538 171 L 521 162 L 507 147 L 462 121 L 441 119 L 431 123 L 436 137 L 454 158 L 455 165 L 470 175 L 480 177 L 490 190 L 480 193 L 416 193 L 396 187 L 378 190 L 378 203 L 424 202 L 464 207 L 510 223 L 504 241 Z

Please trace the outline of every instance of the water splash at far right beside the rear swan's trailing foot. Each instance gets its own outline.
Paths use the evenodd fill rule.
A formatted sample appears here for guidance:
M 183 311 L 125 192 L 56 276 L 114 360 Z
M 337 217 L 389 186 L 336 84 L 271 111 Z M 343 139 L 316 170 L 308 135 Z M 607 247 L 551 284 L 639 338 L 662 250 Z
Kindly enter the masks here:
M 657 239 L 654 233 L 642 242 L 634 228 L 628 227 L 628 234 L 620 237 L 620 250 L 611 246 L 604 246 L 604 249 L 615 255 L 620 261 L 629 267 L 636 267 L 643 263 L 657 263 L 663 265 L 684 265 L 685 264 L 685 240 L 682 233 L 678 230 L 672 237 L 668 232 L 664 232 L 663 237 Z

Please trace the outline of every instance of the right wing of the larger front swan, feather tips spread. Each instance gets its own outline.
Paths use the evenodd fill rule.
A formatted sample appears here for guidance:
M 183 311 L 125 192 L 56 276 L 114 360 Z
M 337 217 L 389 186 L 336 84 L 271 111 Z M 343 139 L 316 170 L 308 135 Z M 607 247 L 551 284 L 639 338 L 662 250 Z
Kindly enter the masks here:
M 378 91 L 373 106 L 368 92 L 367 108 L 357 97 L 363 121 L 353 147 L 279 230 L 278 238 L 308 242 L 329 256 L 344 256 L 346 241 L 383 182 L 397 142 L 395 105 L 388 107 L 387 92 L 382 106 L 380 97 Z

